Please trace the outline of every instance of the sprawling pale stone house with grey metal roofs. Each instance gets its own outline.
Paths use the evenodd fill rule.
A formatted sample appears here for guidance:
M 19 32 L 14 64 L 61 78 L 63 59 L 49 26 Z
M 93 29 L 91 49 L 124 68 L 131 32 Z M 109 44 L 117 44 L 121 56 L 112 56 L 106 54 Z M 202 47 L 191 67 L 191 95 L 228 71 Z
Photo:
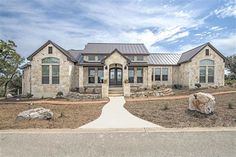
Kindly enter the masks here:
M 195 88 L 224 85 L 225 57 L 210 43 L 182 54 L 149 53 L 144 44 L 88 43 L 83 50 L 65 50 L 47 41 L 23 66 L 23 94 L 53 97 L 72 89 L 111 88 L 129 96 L 132 87 L 182 85 Z

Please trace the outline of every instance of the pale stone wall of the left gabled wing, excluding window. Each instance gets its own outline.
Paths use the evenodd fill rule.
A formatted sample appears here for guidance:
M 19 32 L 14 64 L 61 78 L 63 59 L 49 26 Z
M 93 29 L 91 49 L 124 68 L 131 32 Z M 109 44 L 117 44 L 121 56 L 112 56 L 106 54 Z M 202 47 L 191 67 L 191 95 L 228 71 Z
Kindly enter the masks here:
M 53 53 L 48 54 L 48 46 L 53 47 Z M 39 53 L 37 53 L 31 61 L 31 84 L 32 94 L 34 97 L 54 97 L 58 91 L 62 91 L 66 95 L 71 88 L 71 77 L 74 63 L 69 61 L 67 57 L 61 53 L 56 47 L 49 44 Z M 60 84 L 42 84 L 42 59 L 46 57 L 56 57 L 60 59 Z

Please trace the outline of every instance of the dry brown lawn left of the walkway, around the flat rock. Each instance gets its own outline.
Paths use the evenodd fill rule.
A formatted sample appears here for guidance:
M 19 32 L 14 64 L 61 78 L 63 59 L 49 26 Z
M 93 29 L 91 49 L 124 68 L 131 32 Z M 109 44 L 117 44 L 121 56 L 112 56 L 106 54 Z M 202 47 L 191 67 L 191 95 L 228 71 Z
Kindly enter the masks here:
M 0 129 L 78 128 L 98 118 L 104 105 L 105 103 L 70 105 L 0 103 Z M 16 120 L 18 113 L 37 107 L 50 109 L 54 113 L 53 119 Z

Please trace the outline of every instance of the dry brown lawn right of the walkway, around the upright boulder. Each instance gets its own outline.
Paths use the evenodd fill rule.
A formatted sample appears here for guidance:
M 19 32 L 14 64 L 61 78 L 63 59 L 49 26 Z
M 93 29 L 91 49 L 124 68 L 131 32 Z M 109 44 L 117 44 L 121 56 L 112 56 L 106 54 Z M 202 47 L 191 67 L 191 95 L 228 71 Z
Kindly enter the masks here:
M 127 102 L 133 115 L 166 128 L 235 127 L 236 94 L 217 95 L 215 113 L 204 115 L 189 111 L 188 99 Z M 233 109 L 229 109 L 229 103 Z

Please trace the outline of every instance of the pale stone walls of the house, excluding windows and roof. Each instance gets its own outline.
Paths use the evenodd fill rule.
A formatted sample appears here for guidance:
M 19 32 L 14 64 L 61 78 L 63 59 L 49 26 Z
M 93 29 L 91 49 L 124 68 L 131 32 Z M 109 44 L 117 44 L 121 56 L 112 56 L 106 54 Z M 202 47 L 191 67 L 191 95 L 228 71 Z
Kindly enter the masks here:
M 53 48 L 53 53 L 48 53 L 48 46 Z M 209 56 L 206 56 L 205 49 L 209 49 Z M 49 84 L 42 84 L 42 59 L 46 57 L 55 57 L 60 60 L 60 83 L 52 84 L 52 71 L 50 70 Z M 85 57 L 85 60 L 87 58 Z M 211 47 L 206 46 L 191 61 L 182 63 L 180 65 L 149 65 L 147 63 L 147 56 L 144 56 L 146 64 L 136 63 L 130 65 L 127 56 L 122 55 L 119 51 L 113 51 L 110 55 L 106 55 L 104 62 L 99 65 L 93 66 L 92 64 L 77 64 L 68 59 L 68 56 L 63 54 L 61 50 L 53 44 L 48 44 L 43 49 L 35 54 L 31 61 L 30 66 L 24 68 L 24 75 L 22 79 L 22 93 L 32 93 L 34 97 L 55 97 L 57 92 L 62 91 L 67 95 L 70 91 L 79 93 L 71 94 L 72 97 L 80 96 L 82 94 L 97 94 L 102 97 L 109 96 L 109 75 L 110 69 L 119 67 L 122 70 L 122 83 L 121 87 L 124 96 L 132 95 L 132 89 L 145 89 L 152 90 L 153 86 L 163 87 L 179 84 L 188 88 L 196 88 L 195 83 L 199 83 L 200 61 L 203 59 L 210 59 L 214 61 L 214 83 L 201 83 L 202 87 L 207 86 L 223 86 L 224 85 L 224 59 L 219 56 Z M 98 60 L 98 58 L 96 59 Z M 128 83 L 129 67 L 134 67 L 134 83 Z M 95 83 L 88 83 L 88 68 L 95 68 Z M 98 67 L 103 68 L 103 83 L 98 83 Z M 143 83 L 137 83 L 137 68 L 143 69 Z M 155 80 L 153 71 L 155 68 L 167 68 L 168 80 Z M 161 70 L 162 71 L 162 70 Z M 161 73 L 162 78 L 162 73 Z M 87 90 L 87 91 L 85 91 Z M 90 92 L 89 92 L 90 91 Z M 158 94 L 158 92 L 155 92 Z M 156 94 L 151 93 L 151 95 Z M 144 94 L 146 95 L 146 94 Z M 90 96 L 90 95 L 89 95 Z M 88 96 L 88 97 L 89 97 Z M 86 96 L 85 96 L 86 97 Z M 96 96 L 99 97 L 99 96 Z

